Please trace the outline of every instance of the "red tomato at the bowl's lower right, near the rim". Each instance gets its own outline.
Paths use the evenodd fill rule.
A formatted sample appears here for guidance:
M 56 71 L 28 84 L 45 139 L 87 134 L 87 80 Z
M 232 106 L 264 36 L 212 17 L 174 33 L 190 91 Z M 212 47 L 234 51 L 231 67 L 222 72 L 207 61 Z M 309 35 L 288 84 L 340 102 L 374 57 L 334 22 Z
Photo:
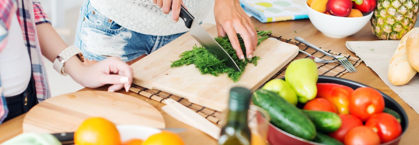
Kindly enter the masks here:
M 381 142 L 389 142 L 401 135 L 401 125 L 396 117 L 388 113 L 374 114 L 365 123 L 374 132 L 377 132 Z

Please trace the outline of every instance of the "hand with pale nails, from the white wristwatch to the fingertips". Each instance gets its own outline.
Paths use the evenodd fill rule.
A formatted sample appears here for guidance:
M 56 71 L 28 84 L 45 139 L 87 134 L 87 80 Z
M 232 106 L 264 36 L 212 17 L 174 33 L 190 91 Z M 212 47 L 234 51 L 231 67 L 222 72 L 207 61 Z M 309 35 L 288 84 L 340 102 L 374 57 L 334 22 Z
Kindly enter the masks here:
M 85 87 L 97 88 L 113 84 L 108 88 L 110 92 L 122 88 L 128 92 L 134 74 L 132 68 L 118 57 L 110 57 L 93 65 L 73 65 L 65 70 L 76 82 Z

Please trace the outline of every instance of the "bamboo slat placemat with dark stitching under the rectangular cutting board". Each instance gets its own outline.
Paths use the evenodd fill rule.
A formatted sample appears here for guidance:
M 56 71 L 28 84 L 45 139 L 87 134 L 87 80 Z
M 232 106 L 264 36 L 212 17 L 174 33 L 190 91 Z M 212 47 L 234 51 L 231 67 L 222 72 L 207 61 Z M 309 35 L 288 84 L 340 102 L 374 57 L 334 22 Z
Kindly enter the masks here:
M 296 45 L 301 50 L 306 51 L 306 52 L 310 53 L 311 55 L 316 56 L 318 58 L 328 59 L 328 60 L 333 59 L 329 56 L 324 55 L 321 52 L 318 52 L 317 50 L 315 50 L 313 48 L 305 46 L 304 44 L 296 42 L 292 39 L 282 38 L 282 36 L 277 36 L 275 34 L 268 34 L 268 36 L 272 37 L 272 38 L 276 38 L 276 39 L 278 39 L 280 41 L 283 41 L 283 42 L 286 42 L 286 43 Z M 325 49 L 323 49 L 323 50 L 325 50 Z M 332 54 L 347 57 L 349 59 L 349 61 L 352 64 L 354 64 L 355 67 L 357 67 L 362 62 L 362 60 L 360 58 L 357 58 L 355 56 L 350 56 L 350 55 L 347 55 L 347 54 L 337 53 L 337 52 L 334 52 L 334 51 L 331 51 L 331 50 L 325 50 L 325 51 L 327 51 L 329 53 L 332 53 Z M 308 58 L 308 56 L 303 54 L 303 53 L 298 53 L 298 55 L 293 60 L 302 59 L 302 58 Z M 323 64 L 316 63 L 316 64 L 317 64 L 317 69 L 318 69 L 318 74 L 319 75 L 340 77 L 343 74 L 348 72 L 339 62 L 323 63 Z M 287 66 L 288 66 L 288 64 L 284 68 L 282 68 L 280 71 L 278 71 L 277 74 L 272 76 L 272 78 L 269 79 L 269 80 L 276 79 L 276 78 L 281 78 L 281 77 L 285 76 L 285 69 L 287 69 Z M 163 91 L 160 91 L 160 90 L 156 90 L 156 89 L 147 89 L 147 88 L 144 88 L 142 86 L 137 86 L 135 84 L 132 84 L 132 87 L 129 90 L 131 90 L 132 92 L 138 93 L 138 94 L 140 94 L 144 97 L 147 97 L 147 98 L 150 98 L 150 99 L 153 99 L 155 101 L 162 102 L 162 103 L 163 103 L 164 99 L 168 99 L 168 98 L 174 99 L 174 100 L 180 102 L 181 104 L 183 104 L 184 106 L 186 106 L 186 107 L 194 110 L 198 114 L 202 115 L 207 120 L 209 120 L 209 121 L 211 121 L 211 122 L 213 122 L 217 125 L 219 125 L 219 123 L 220 123 L 221 112 L 216 111 L 214 109 L 207 108 L 207 107 L 203 107 L 203 106 L 198 105 L 198 104 L 191 103 L 191 102 L 188 101 L 188 99 L 185 99 L 185 98 L 182 98 L 182 97 L 179 97 L 179 96 L 167 93 L 167 92 L 163 92 Z

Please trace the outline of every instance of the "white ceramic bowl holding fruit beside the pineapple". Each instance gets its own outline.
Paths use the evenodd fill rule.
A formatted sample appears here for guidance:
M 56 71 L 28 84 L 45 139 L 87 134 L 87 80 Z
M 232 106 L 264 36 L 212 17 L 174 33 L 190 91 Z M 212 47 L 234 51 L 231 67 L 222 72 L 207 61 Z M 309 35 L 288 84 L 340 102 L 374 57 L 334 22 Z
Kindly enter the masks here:
M 347 18 L 327 15 L 313 10 L 305 3 L 308 18 L 318 31 L 334 38 L 344 38 L 360 31 L 370 21 L 371 13 L 363 13 L 363 17 Z

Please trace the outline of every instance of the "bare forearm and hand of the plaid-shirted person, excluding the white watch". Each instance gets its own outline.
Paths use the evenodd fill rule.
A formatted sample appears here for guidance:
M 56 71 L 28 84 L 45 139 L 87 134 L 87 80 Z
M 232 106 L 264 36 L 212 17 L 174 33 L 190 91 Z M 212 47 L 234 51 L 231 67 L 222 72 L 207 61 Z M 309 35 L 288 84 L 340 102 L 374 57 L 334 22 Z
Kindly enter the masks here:
M 36 25 L 36 34 L 42 54 L 51 62 L 67 48 L 67 44 L 49 23 Z M 132 68 L 118 57 L 111 57 L 92 65 L 84 65 L 76 56 L 72 56 L 64 66 L 64 71 L 82 86 L 97 88 L 105 84 L 113 84 L 108 91 L 116 91 L 125 87 L 128 92 L 134 74 Z

